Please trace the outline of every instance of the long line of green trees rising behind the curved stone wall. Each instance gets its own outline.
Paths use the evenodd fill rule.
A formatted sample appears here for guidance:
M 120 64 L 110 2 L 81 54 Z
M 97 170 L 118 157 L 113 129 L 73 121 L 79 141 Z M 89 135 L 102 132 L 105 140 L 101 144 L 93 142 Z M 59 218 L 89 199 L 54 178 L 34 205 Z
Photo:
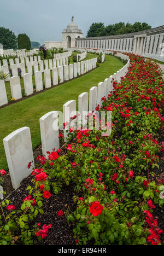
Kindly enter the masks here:
M 114 36 L 116 34 L 149 30 L 150 28 L 151 26 L 145 22 L 135 22 L 134 24 L 130 24 L 129 22 L 127 22 L 127 24 L 125 24 L 125 22 L 119 22 L 113 25 L 110 24 L 106 27 L 103 23 L 93 23 L 87 32 L 87 37 Z

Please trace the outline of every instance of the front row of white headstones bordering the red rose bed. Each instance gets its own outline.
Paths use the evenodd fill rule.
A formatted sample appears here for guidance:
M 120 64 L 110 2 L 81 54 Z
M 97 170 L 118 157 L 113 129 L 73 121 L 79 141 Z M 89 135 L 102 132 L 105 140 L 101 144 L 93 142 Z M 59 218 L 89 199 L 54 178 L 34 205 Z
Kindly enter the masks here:
M 110 75 L 104 82 L 99 83 L 90 89 L 90 92 L 84 92 L 79 96 L 79 113 L 83 117 L 83 111 L 95 110 L 97 104 L 101 106 L 101 99 L 108 96 L 113 91 L 113 81 L 121 81 L 121 77 L 126 75 L 130 60 L 114 75 Z M 71 118 L 76 113 L 76 101 L 69 101 L 63 105 L 63 123 L 71 123 Z M 52 111 L 40 118 L 40 133 L 42 138 L 43 155 L 47 158 L 46 152 L 60 147 L 57 129 L 54 130 L 54 122 L 58 123 L 58 112 Z M 65 138 L 67 133 L 65 132 Z M 28 169 L 29 162 L 34 162 L 33 149 L 31 141 L 31 132 L 29 127 L 22 127 L 3 139 L 5 155 L 7 157 L 9 172 L 13 188 L 19 187 L 21 181 L 32 172 L 32 166 Z

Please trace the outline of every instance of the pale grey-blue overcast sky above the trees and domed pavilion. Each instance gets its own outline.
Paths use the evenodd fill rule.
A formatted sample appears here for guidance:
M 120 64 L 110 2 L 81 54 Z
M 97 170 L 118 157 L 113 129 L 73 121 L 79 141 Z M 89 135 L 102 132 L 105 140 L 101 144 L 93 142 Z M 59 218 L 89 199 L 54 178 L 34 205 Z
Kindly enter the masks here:
M 163 0 L 0 0 L 0 26 L 31 41 L 62 40 L 62 30 L 74 22 L 86 36 L 93 22 L 147 22 L 164 25 Z

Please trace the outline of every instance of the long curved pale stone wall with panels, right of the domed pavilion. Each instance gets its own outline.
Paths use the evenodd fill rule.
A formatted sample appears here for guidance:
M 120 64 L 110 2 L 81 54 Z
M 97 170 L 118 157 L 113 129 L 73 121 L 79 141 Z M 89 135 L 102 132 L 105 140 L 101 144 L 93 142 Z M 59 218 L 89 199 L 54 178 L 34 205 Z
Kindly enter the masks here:
M 164 26 L 117 36 L 77 38 L 76 48 L 134 53 L 164 62 Z

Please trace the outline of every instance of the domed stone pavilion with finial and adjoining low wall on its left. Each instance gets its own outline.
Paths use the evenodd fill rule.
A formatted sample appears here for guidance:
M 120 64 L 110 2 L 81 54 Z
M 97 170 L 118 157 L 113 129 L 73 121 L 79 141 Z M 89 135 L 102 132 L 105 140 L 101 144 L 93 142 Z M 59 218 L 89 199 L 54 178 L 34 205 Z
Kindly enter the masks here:
M 75 39 L 81 38 L 83 32 L 79 30 L 78 25 L 74 23 L 74 16 L 72 16 L 71 23 L 62 32 L 62 42 L 46 41 L 44 42 L 47 49 L 56 48 L 75 48 Z

